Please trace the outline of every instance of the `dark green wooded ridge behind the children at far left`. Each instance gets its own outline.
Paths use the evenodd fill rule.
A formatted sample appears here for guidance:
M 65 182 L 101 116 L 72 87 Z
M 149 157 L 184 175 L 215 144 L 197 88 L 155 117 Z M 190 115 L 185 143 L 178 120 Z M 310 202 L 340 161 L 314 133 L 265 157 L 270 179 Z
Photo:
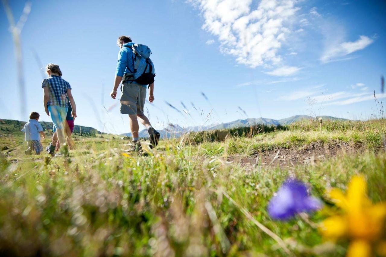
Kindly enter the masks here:
M 1 120 L 0 119 L 0 132 L 6 133 L 6 132 L 21 132 L 20 130 L 24 127 L 24 124 L 26 122 L 24 121 L 19 121 L 19 120 Z M 44 131 L 49 131 L 52 132 L 52 122 L 39 122 L 40 125 L 42 125 L 42 128 Z M 75 125 L 74 126 L 74 134 L 76 135 L 83 135 L 83 136 L 88 136 L 88 137 L 95 137 L 95 134 L 103 134 L 102 132 L 96 130 L 95 128 L 92 127 L 84 127 L 84 126 L 79 126 Z

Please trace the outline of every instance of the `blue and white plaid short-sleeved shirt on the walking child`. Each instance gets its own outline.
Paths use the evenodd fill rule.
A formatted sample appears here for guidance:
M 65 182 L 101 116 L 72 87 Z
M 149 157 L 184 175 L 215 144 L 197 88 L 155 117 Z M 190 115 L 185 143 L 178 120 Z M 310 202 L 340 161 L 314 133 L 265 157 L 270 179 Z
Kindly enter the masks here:
M 52 75 L 49 78 L 43 79 L 42 88 L 45 86 L 49 89 L 49 100 L 47 106 L 56 105 L 60 107 L 68 107 L 67 105 L 67 90 L 71 89 L 70 83 L 65 81 L 60 76 Z

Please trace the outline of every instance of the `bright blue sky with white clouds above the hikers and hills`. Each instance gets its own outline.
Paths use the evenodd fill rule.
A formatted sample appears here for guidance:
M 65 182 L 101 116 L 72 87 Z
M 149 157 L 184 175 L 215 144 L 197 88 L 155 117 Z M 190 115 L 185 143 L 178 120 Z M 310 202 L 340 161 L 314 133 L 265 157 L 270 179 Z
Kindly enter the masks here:
M 18 20 L 25 1 L 9 2 Z M 32 1 L 21 30 L 23 114 L 14 44 L 0 9 L 0 118 L 27 120 L 36 111 L 50 121 L 41 68 L 52 62 L 73 88 L 76 124 L 129 132 L 127 115 L 109 96 L 122 34 L 152 50 L 155 101 L 145 113 L 156 128 L 311 113 L 367 119 L 377 113 L 372 92 L 386 97 L 382 0 Z

